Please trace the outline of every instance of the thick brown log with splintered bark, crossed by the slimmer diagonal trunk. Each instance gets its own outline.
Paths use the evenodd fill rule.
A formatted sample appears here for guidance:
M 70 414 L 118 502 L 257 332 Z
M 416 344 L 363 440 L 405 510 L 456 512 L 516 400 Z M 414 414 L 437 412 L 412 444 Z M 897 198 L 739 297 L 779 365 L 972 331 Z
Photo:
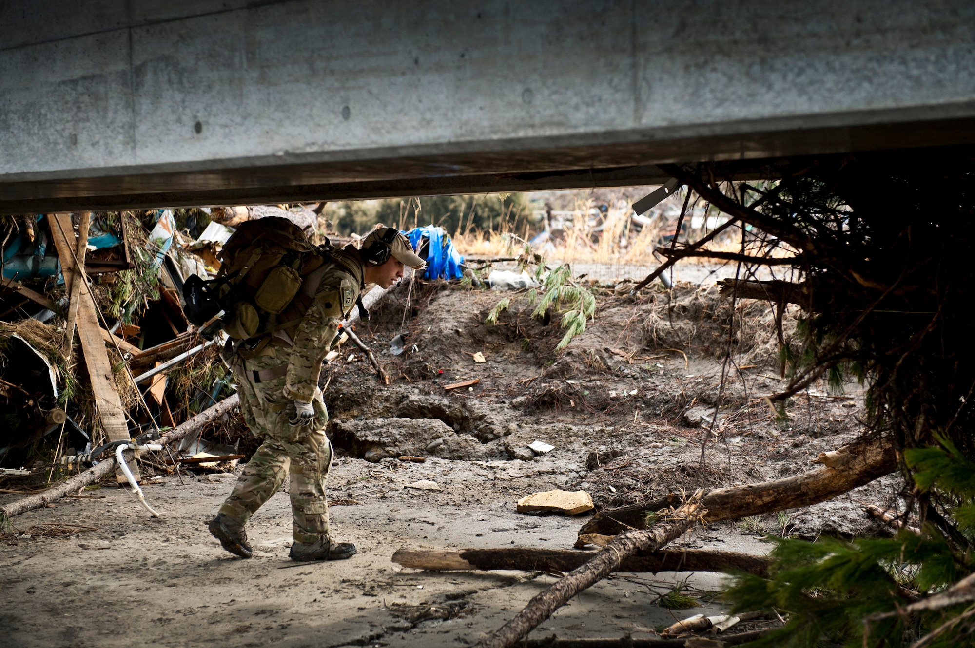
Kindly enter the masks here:
M 825 502 L 893 473 L 897 468 L 897 455 L 892 445 L 874 438 L 856 441 L 832 452 L 821 452 L 813 463 L 822 464 L 822 468 L 784 479 L 710 491 L 702 500 L 702 506 L 708 510 L 705 521 L 740 519 Z M 643 529 L 647 513 L 679 503 L 679 497 L 671 493 L 656 500 L 604 509 L 579 529 L 575 546 L 604 545 L 607 536 L 628 528 Z

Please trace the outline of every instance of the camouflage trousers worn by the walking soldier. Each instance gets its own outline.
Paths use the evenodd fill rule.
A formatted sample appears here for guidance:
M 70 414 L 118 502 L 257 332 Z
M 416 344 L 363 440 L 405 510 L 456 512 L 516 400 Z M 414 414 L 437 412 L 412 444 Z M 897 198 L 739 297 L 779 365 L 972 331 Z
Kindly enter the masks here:
M 271 347 L 265 353 L 269 355 L 246 361 L 244 368 L 261 371 L 282 366 L 288 362 L 291 349 Z M 322 391 L 315 390 L 315 418 L 303 426 L 292 427 L 288 419 L 294 417 L 294 404 L 283 394 L 285 376 L 254 382 L 241 368 L 240 364 L 234 367 L 241 412 L 254 436 L 263 442 L 220 507 L 220 513 L 247 523 L 278 491 L 290 472 L 294 541 L 310 545 L 327 539 L 329 507 L 325 478 L 331 468 L 332 450 L 325 436 L 329 414 Z

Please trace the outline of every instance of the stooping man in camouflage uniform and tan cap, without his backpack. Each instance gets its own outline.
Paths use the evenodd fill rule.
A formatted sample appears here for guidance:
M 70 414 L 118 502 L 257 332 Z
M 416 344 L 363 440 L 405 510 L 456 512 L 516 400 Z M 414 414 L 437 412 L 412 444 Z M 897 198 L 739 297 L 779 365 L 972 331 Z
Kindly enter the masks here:
M 292 560 L 337 560 L 356 553 L 354 545 L 332 542 L 329 534 L 325 478 L 332 450 L 325 436 L 329 414 L 318 378 L 339 324 L 359 301 L 362 289 L 366 284 L 392 286 L 403 277 L 404 264 L 417 270 L 426 265 L 407 237 L 390 227 L 372 232 L 362 249 L 333 251 L 330 262 L 304 278 L 289 307 L 292 315 L 304 311 L 299 323 L 257 345 L 256 355 L 247 353 L 246 347 L 238 352 L 234 377 L 241 411 L 263 442 L 209 524 L 223 549 L 245 558 L 253 555 L 244 526 L 290 471 Z M 280 321 L 291 322 L 289 315 L 286 311 Z

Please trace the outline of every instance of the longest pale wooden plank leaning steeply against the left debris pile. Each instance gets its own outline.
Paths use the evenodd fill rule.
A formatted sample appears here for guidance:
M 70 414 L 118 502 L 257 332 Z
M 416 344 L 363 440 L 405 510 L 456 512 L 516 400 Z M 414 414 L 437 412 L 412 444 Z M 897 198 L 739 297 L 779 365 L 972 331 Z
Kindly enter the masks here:
M 75 275 L 67 270 L 75 267 L 77 242 L 73 240 L 74 230 L 70 227 L 70 216 L 64 218 L 65 215 L 55 215 L 51 223 L 51 236 L 55 241 L 55 247 L 58 249 L 65 285 L 68 284 L 68 274 L 72 275 L 72 287 L 74 281 L 78 280 L 78 337 L 81 340 L 81 350 L 85 356 L 85 366 L 88 368 L 88 376 L 92 384 L 96 411 L 108 440 L 128 440 L 130 438 L 129 423 L 126 421 L 125 410 L 122 409 L 122 399 L 119 397 L 118 389 L 115 386 L 115 373 L 112 370 L 112 363 L 108 359 L 105 342 L 101 337 L 102 328 L 101 324 L 98 323 L 95 298 L 89 289 L 87 278 L 84 275 Z M 66 226 L 65 220 L 67 221 Z M 129 463 L 129 469 L 132 470 L 137 479 L 140 478 L 135 461 Z M 116 478 L 119 483 L 128 481 L 121 470 L 116 473 Z

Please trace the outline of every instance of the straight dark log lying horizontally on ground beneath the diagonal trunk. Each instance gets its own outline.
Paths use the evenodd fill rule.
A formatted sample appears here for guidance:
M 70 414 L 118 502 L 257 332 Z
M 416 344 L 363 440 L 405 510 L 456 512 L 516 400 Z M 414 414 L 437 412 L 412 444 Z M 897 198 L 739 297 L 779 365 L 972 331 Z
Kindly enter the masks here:
M 525 571 L 567 572 L 585 564 L 592 552 L 571 549 L 401 549 L 393 553 L 393 562 L 412 569 L 431 571 L 469 571 L 522 569 Z M 662 550 L 637 552 L 623 559 L 613 571 L 726 571 L 734 569 L 764 576 L 768 559 L 761 555 L 706 550 Z

